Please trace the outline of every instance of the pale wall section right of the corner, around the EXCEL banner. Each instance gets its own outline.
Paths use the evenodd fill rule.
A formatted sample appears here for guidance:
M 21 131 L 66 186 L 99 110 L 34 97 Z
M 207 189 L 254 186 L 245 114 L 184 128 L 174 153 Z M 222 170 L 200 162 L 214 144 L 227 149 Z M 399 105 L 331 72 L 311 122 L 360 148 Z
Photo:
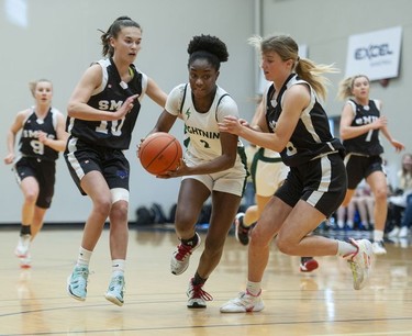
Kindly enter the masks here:
M 371 31 L 402 26 L 402 51 L 399 78 L 387 88 L 371 83 L 371 98 L 383 102 L 382 114 L 389 119 L 389 131 L 412 152 L 412 112 L 410 97 L 412 66 L 412 1 L 410 0 L 263 0 L 265 34 L 287 33 L 299 44 L 307 44 L 309 58 L 316 63 L 335 64 L 341 74 L 330 75 L 333 86 L 326 101 L 326 112 L 339 115 L 343 102 L 336 100 L 337 85 L 345 76 L 348 36 Z M 389 177 L 396 182 L 401 155 L 382 139 Z

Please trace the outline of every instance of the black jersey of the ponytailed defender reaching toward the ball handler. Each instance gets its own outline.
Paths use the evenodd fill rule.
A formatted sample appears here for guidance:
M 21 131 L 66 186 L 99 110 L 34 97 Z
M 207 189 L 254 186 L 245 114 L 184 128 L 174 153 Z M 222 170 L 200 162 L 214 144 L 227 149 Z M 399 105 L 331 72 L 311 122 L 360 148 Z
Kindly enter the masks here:
M 297 83 L 310 88 L 311 100 L 308 108 L 301 112 L 297 127 L 287 146 L 280 152 L 282 161 L 291 167 L 308 163 L 311 159 L 333 153 L 344 152 L 339 139 L 331 134 L 329 119 L 311 86 L 301 80 L 297 74 L 291 74 L 285 81 L 276 100 L 272 100 L 275 87 L 271 85 L 266 97 L 266 122 L 270 132 L 276 132 L 276 123 L 282 113 L 282 96 L 287 89 Z

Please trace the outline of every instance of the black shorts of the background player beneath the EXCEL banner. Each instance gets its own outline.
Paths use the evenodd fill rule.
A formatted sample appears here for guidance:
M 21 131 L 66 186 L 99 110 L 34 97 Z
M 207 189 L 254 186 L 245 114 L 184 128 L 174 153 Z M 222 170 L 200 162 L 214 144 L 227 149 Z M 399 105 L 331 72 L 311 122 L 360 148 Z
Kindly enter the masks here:
M 348 154 L 345 157 L 347 172 L 347 188 L 356 189 L 363 179 L 366 179 L 374 171 L 385 173 L 383 161 L 379 155 L 366 156 L 359 154 Z

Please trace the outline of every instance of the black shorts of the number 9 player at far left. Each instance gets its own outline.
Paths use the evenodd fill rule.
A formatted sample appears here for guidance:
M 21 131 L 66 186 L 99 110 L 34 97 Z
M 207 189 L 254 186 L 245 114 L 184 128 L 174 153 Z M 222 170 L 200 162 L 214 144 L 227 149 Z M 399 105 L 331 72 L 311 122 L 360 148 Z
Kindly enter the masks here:
M 34 177 L 38 183 L 36 205 L 48 209 L 52 205 L 54 184 L 56 182 L 56 161 L 23 156 L 13 167 L 18 183 L 26 177 Z

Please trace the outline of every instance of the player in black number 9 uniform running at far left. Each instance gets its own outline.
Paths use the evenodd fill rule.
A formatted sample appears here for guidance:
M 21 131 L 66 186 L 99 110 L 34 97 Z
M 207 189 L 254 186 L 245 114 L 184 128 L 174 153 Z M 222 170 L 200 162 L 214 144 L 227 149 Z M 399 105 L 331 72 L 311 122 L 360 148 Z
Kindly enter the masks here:
M 63 114 L 52 107 L 53 85 L 47 79 L 30 83 L 35 105 L 18 113 L 8 137 L 7 165 L 13 170 L 24 195 L 22 225 L 15 255 L 21 267 L 31 266 L 30 243 L 43 226 L 51 208 L 55 186 L 58 152 L 66 147 L 67 133 Z M 19 155 L 14 154 L 20 132 Z

